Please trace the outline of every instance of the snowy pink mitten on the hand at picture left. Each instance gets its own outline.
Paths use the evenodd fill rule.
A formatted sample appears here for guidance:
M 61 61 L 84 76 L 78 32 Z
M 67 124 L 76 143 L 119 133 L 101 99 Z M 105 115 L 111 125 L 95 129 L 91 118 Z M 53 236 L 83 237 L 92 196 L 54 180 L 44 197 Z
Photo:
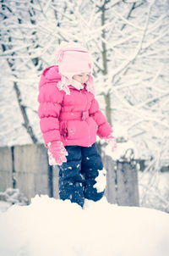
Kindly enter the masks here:
M 67 162 L 66 156 L 68 156 L 68 152 L 63 146 L 63 142 L 49 142 L 47 146 L 50 165 L 62 165 Z

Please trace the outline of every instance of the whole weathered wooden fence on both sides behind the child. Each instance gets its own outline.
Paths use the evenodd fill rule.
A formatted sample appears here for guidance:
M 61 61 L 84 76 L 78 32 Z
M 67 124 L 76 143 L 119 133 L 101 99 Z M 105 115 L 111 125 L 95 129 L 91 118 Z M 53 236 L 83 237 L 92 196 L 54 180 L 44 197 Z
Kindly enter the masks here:
M 107 170 L 106 198 L 118 205 L 139 205 L 135 164 L 114 162 L 103 156 Z M 26 198 L 47 194 L 58 198 L 58 170 L 48 165 L 46 148 L 41 144 L 0 147 L 0 192 L 19 188 Z

